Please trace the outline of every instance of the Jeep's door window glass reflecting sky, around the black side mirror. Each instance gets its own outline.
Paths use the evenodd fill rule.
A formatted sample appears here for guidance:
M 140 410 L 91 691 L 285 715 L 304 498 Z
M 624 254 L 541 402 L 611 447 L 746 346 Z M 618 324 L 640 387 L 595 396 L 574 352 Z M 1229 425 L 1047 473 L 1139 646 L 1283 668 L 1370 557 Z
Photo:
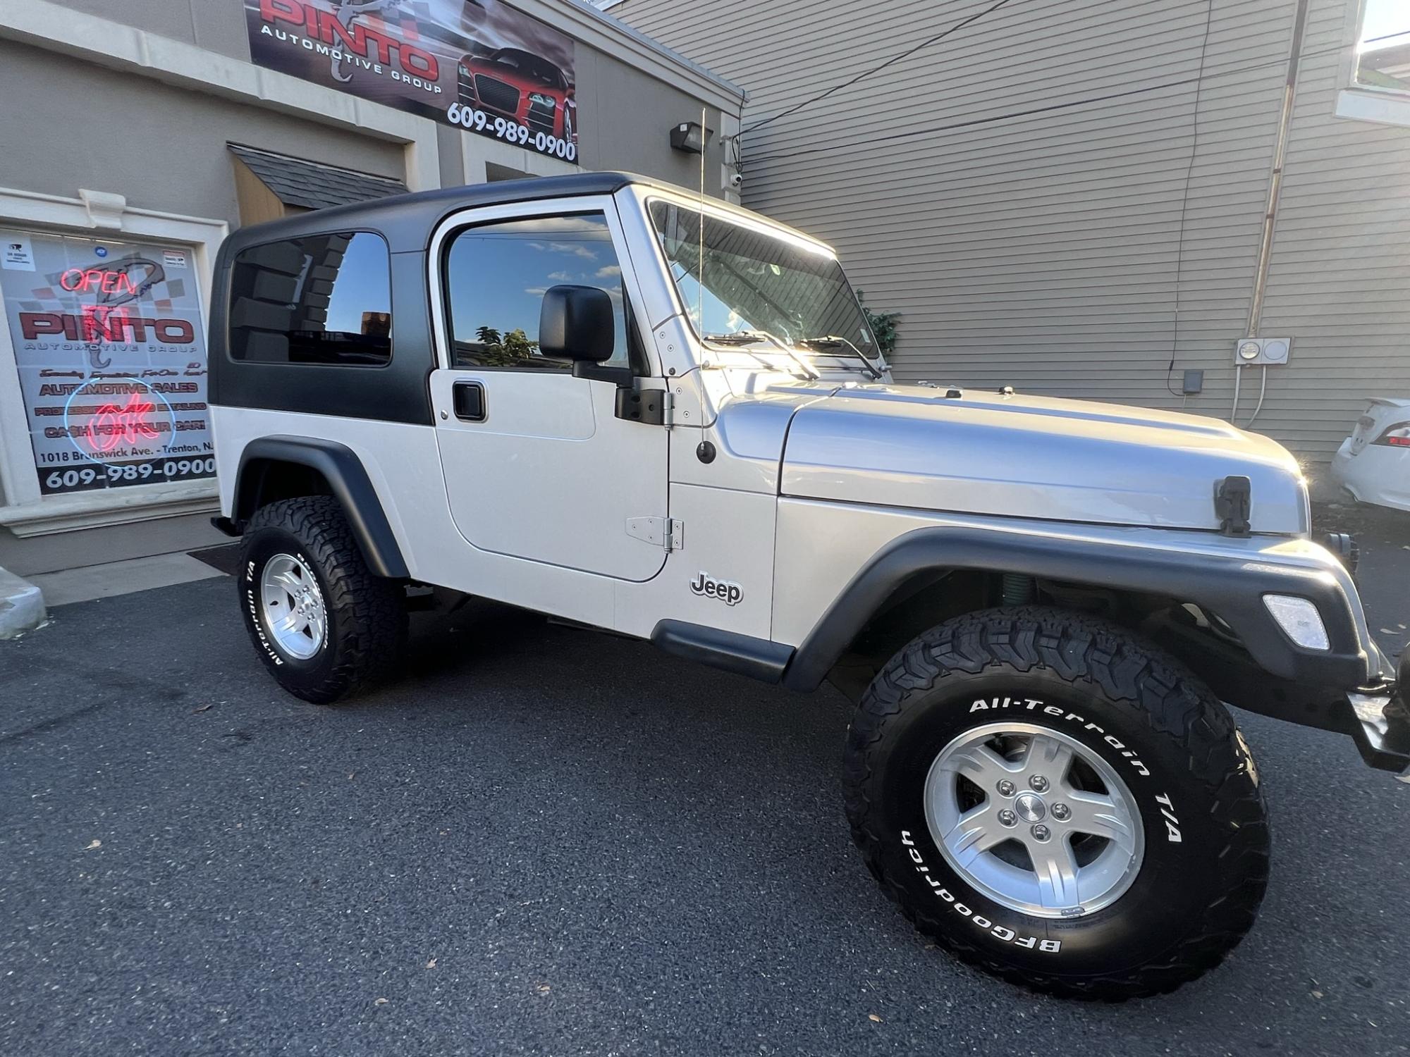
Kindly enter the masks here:
M 616 323 L 608 365 L 626 366 L 622 268 L 601 213 L 482 224 L 455 235 L 446 262 L 451 365 L 567 371 L 567 359 L 539 351 L 543 295 L 560 283 L 608 292 Z

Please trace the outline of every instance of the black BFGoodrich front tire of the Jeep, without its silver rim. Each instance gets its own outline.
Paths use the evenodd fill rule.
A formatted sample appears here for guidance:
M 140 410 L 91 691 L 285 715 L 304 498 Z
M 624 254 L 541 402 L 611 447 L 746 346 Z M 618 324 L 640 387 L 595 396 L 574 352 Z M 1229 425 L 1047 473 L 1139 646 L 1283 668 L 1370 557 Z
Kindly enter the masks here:
M 1128 784 L 1145 857 L 1110 906 L 1070 919 L 1010 909 L 932 839 L 931 762 L 963 731 L 1010 719 L 1079 740 Z M 1104 1001 L 1173 991 L 1238 944 L 1268 882 L 1258 771 L 1227 709 L 1172 657 L 1081 614 L 995 609 L 911 641 L 857 706 L 843 781 L 853 839 L 915 927 L 1034 991 Z

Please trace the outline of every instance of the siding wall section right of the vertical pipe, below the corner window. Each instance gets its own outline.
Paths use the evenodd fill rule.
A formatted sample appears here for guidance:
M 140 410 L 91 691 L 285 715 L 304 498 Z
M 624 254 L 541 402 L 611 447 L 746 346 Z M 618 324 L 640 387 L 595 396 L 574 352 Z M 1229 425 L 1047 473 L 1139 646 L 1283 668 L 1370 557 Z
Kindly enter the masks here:
M 1294 344 L 1256 428 L 1318 458 L 1365 396 L 1410 395 L 1410 128 L 1334 116 L 1354 18 L 1313 0 L 1263 306 Z

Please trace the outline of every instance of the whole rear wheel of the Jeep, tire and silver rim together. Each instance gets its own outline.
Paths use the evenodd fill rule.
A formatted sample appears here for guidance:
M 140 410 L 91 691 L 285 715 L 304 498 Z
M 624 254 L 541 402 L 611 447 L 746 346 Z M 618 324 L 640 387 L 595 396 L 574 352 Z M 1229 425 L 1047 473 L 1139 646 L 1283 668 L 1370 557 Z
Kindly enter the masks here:
M 406 640 L 396 581 L 372 574 L 330 496 L 255 512 L 241 541 L 240 612 L 265 668 L 327 705 L 384 676 Z

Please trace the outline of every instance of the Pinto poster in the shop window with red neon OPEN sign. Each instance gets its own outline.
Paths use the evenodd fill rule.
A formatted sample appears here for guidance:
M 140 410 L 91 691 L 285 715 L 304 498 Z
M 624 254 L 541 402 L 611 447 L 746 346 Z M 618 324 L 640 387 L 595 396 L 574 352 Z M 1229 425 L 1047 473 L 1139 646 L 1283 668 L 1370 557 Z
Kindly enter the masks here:
M 0 247 L 25 251 L 0 295 L 39 490 L 214 476 L 192 254 L 6 230 Z

